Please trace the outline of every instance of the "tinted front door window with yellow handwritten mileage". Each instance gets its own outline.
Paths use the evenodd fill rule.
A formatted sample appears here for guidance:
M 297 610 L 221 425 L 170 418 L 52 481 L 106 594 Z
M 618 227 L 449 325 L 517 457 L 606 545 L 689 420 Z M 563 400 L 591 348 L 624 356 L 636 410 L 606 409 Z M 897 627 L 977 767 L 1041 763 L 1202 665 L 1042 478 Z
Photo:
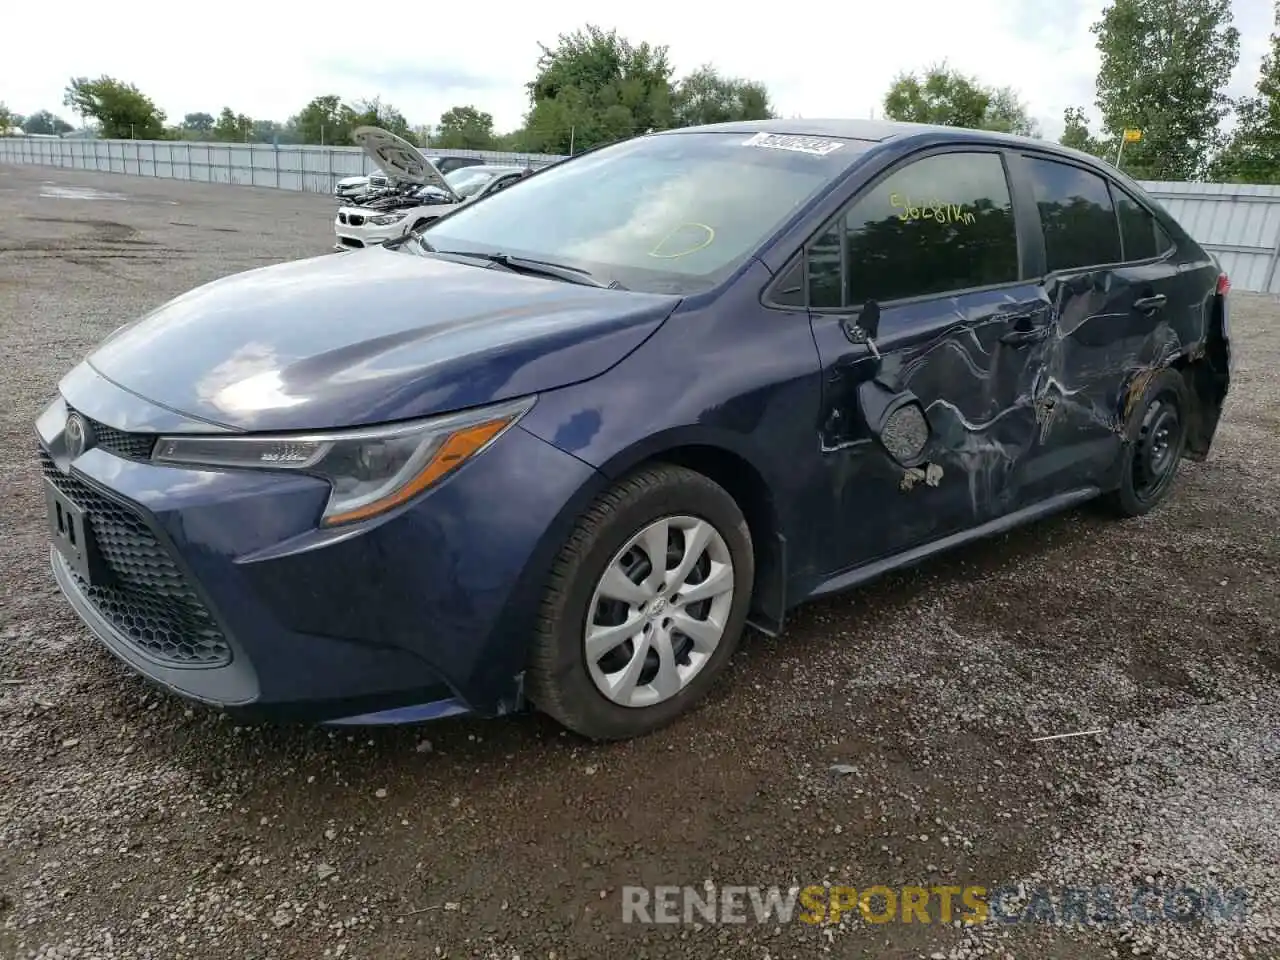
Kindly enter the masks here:
M 861 306 L 1010 283 L 1018 232 L 997 154 L 916 160 L 855 200 L 808 251 L 809 305 Z

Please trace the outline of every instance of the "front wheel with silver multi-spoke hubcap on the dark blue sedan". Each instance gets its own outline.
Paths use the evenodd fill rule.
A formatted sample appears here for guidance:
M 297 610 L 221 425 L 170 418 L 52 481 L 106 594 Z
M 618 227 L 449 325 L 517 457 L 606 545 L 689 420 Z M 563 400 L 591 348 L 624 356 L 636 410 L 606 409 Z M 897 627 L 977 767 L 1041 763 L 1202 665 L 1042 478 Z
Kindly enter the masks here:
M 662 522 L 668 525 L 666 539 L 659 532 Z M 631 545 L 641 534 L 652 536 L 653 544 L 659 539 L 667 544 L 663 566 L 671 582 L 657 595 L 644 588 L 660 579 L 648 562 L 649 552 Z M 689 543 L 686 535 L 698 536 L 699 544 L 705 538 L 705 547 L 699 545 L 692 573 L 681 584 L 675 580 Z M 716 566 L 724 562 L 730 570 Z M 643 577 L 640 584 L 622 584 L 622 593 L 636 594 L 634 602 L 604 595 L 602 581 L 609 571 Z M 579 518 L 552 564 L 526 675 L 530 700 L 591 740 L 627 740 L 666 726 L 707 694 L 733 655 L 754 579 L 750 530 L 723 488 L 685 467 L 639 470 L 602 494 Z M 708 585 L 704 593 L 719 593 L 686 607 L 680 586 L 689 594 L 707 581 L 714 586 Z M 614 593 L 621 589 L 616 577 L 611 584 Z M 728 584 L 731 593 L 726 594 Z M 643 607 L 635 602 L 643 599 L 641 593 L 650 598 Z M 701 644 L 680 631 L 681 623 L 692 627 L 692 621 L 713 625 L 696 631 L 704 636 Z M 596 634 L 600 625 L 626 626 L 589 654 L 589 623 Z M 710 643 L 705 637 L 714 632 L 714 625 L 723 625 L 723 631 Z M 636 655 L 641 646 L 643 658 Z M 630 696 L 628 675 L 637 681 Z

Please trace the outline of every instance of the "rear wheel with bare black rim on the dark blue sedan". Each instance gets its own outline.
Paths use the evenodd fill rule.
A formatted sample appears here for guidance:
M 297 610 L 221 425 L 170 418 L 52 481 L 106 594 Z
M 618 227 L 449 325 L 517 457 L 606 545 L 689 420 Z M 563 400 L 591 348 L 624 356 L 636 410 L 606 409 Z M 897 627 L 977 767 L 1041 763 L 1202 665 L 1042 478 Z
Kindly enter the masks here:
M 1120 485 L 1102 498 L 1120 517 L 1149 513 L 1169 495 L 1187 449 L 1190 399 L 1176 370 L 1155 374 L 1125 424 Z

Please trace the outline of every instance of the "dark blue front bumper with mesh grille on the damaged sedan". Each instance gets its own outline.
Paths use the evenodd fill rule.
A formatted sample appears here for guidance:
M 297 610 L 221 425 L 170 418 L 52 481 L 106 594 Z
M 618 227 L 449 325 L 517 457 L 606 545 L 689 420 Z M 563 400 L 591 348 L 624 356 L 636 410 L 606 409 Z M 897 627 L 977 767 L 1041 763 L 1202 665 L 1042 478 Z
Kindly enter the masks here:
M 166 413 L 83 367 L 63 389 L 37 421 L 42 470 L 87 512 L 108 577 L 90 586 L 56 550 L 54 575 L 133 669 L 271 719 L 406 722 L 524 705 L 543 573 L 570 504 L 595 481 L 590 467 L 517 426 L 397 512 L 323 531 L 328 484 L 316 477 L 156 466 L 116 442 L 137 431 L 100 431 L 111 443 L 69 461 L 68 404 L 108 426 Z

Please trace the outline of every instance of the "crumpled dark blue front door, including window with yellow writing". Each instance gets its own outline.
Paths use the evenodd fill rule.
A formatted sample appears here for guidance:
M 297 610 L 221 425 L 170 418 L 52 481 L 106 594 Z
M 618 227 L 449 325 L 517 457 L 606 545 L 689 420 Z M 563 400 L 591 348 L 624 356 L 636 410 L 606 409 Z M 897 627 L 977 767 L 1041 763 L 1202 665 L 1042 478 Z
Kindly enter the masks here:
M 829 571 L 1014 508 L 1051 333 L 1019 236 L 1002 154 L 950 148 L 860 191 L 805 251 L 840 512 Z M 879 326 L 863 343 L 870 302 Z

